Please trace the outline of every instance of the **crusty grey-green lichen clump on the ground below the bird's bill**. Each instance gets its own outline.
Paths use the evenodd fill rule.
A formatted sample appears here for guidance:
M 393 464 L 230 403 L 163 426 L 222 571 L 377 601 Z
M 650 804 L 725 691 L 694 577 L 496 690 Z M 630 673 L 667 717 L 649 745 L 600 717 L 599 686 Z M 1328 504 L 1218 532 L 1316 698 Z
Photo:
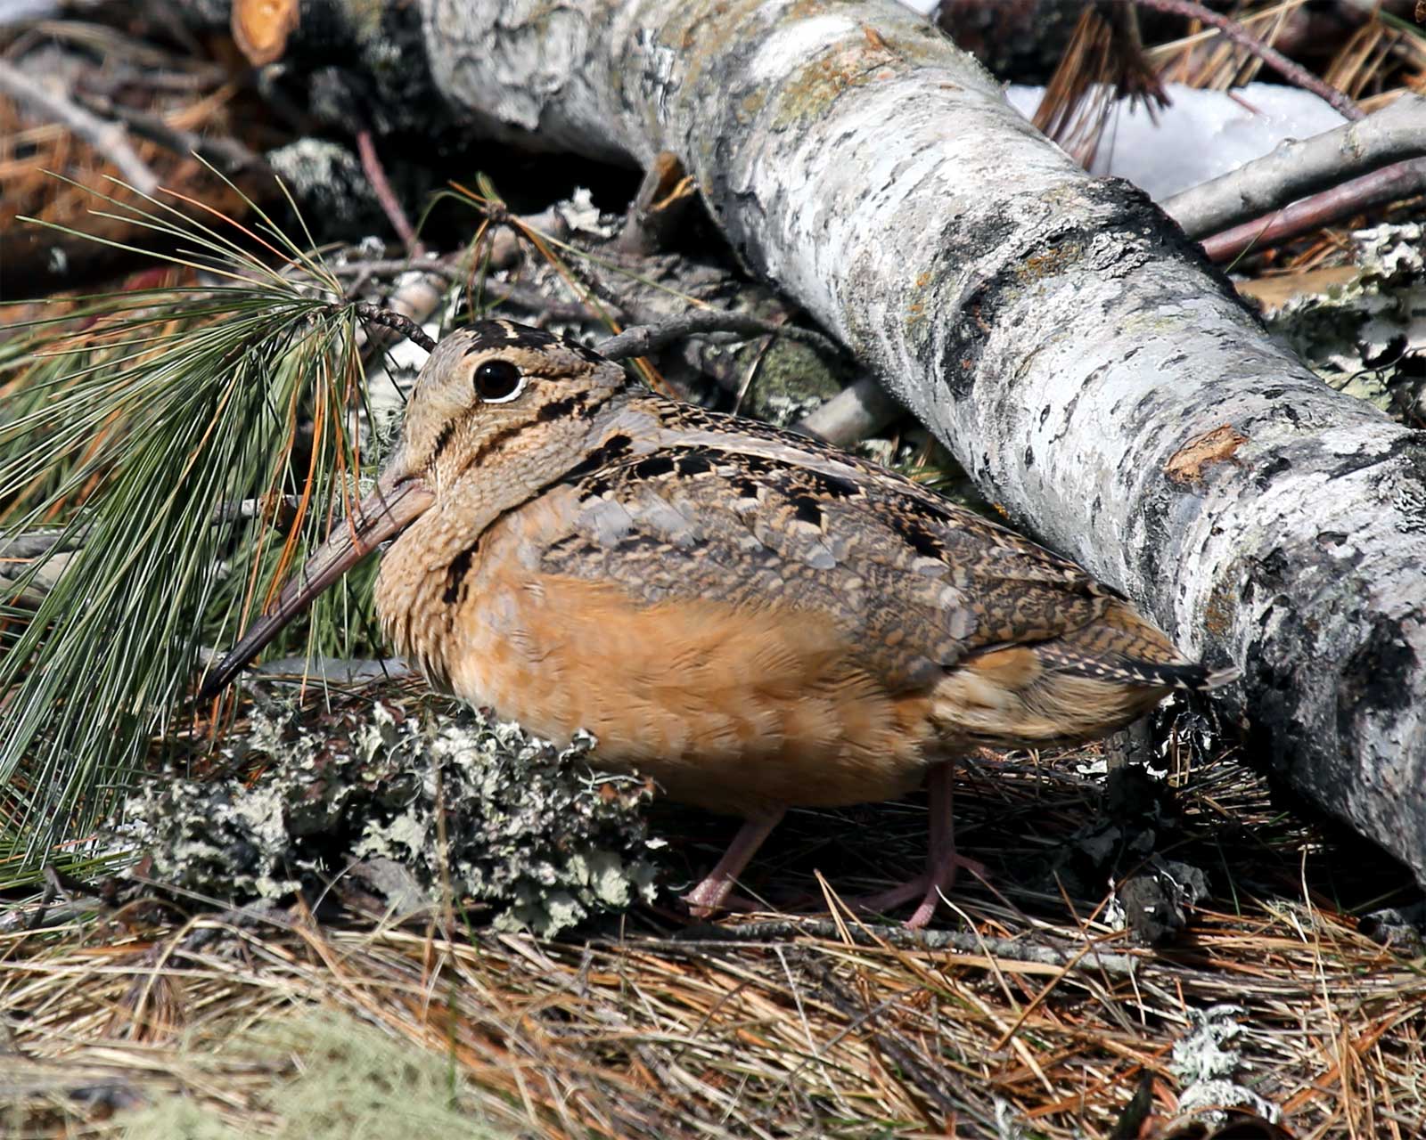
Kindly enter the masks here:
M 267 761 L 255 782 L 155 781 L 127 805 L 147 878 L 225 903 L 451 903 L 543 936 L 653 896 L 652 789 L 592 772 L 588 734 L 559 750 L 472 710 L 375 701 L 260 707 L 230 740 L 230 768 Z

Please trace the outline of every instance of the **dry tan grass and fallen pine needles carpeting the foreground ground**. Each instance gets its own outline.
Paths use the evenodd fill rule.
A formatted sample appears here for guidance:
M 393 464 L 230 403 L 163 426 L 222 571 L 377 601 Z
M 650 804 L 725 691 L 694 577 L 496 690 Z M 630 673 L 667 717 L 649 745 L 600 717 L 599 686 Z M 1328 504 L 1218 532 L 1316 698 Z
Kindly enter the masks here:
M 1383 886 L 1407 898 L 1405 872 L 1293 819 L 1232 760 L 1181 771 L 1159 851 L 1204 866 L 1214 895 L 1172 950 L 1137 949 L 1104 925 L 1105 898 L 1074 886 L 1099 805 L 1072 767 L 968 774 L 961 839 L 995 878 L 957 893 L 937 949 L 810 906 L 689 928 L 673 903 L 568 942 L 458 912 L 398 928 L 161 902 L 11 931 L 11 1134 L 114 1134 L 116 1106 L 173 1090 L 244 1134 L 304 1134 L 282 1131 L 274 1094 L 301 1050 L 254 1060 L 220 1043 L 324 1010 L 442 1059 L 451 1104 L 522 1136 L 1107 1136 L 1145 1080 L 1154 1114 L 1127 1134 L 1159 1136 L 1184 1089 L 1174 1046 L 1222 1003 L 1241 1010 L 1238 1082 L 1292 1134 L 1419 1134 L 1426 973 L 1353 918 Z M 704 865 L 689 832 L 726 828 L 665 815 L 674 851 Z M 923 825 L 914 804 L 803 814 L 749 885 L 887 881 L 920 858 Z

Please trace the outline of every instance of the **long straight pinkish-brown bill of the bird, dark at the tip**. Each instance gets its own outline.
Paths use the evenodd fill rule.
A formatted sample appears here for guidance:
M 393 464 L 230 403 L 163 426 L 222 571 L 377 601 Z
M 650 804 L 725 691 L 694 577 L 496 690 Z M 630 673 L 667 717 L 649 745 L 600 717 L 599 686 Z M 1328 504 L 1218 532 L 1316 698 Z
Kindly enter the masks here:
M 327 542 L 312 551 L 297 574 L 288 579 L 277 604 L 252 623 L 242 640 L 204 678 L 198 700 L 205 701 L 218 695 L 224 685 L 237 677 L 288 621 L 311 606 L 322 590 L 386 539 L 411 526 L 434 502 L 435 496 L 419 479 L 384 475 L 352 517 L 335 526 Z

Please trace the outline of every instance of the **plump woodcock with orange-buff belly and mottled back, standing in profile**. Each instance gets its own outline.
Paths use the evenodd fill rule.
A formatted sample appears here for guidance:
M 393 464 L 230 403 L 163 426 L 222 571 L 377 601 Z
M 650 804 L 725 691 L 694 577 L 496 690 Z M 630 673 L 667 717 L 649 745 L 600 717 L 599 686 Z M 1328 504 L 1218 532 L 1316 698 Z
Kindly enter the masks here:
M 439 688 L 744 819 L 717 909 L 790 805 L 930 784 L 924 925 L 958 866 L 948 761 L 1082 741 L 1208 688 L 1079 567 L 901 476 L 655 395 L 508 321 L 446 336 L 354 519 L 208 677 L 212 694 L 378 543 L 385 636 Z

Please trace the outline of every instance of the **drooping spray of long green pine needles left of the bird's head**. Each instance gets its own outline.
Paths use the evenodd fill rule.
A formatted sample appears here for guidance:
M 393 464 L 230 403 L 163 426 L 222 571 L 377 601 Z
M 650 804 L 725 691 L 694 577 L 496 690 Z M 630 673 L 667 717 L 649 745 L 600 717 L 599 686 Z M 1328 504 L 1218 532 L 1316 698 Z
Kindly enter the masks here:
M 315 254 L 251 201 L 251 227 L 107 201 L 200 284 L 83 298 L 0 349 L 0 886 L 103 855 L 97 825 L 191 727 L 202 650 L 235 640 L 379 459 L 359 445 L 358 321 Z M 267 512 L 232 517 L 281 494 L 291 540 Z M 60 542 L 7 556 L 40 533 Z M 334 593 L 309 643 L 347 653 L 331 614 L 355 603 Z

